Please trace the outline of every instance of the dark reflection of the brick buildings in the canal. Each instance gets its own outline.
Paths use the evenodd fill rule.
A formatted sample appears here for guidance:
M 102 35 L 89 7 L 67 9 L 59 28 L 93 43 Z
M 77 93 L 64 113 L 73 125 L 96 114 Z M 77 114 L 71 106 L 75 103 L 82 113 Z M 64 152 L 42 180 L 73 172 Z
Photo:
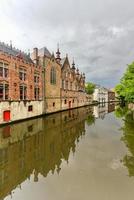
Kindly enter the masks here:
M 93 107 L 74 109 L 0 128 L 0 199 L 34 175 L 60 173 L 85 134 Z

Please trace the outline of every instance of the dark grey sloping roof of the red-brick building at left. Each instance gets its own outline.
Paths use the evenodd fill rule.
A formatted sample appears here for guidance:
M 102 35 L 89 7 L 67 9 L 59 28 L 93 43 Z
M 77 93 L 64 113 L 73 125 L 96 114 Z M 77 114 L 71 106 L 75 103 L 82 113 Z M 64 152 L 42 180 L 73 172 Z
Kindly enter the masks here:
M 24 59 L 26 62 L 33 63 L 32 59 L 29 55 L 26 53 L 20 51 L 19 49 L 12 48 L 12 46 L 9 46 L 3 42 L 0 42 L 0 51 L 7 53 L 12 56 L 18 56 L 21 55 L 22 59 Z

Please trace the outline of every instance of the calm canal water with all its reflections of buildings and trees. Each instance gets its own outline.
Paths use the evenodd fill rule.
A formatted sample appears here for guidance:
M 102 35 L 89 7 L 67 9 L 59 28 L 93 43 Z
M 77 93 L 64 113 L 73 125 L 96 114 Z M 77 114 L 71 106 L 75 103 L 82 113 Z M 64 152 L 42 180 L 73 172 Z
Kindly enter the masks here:
M 133 200 L 134 113 L 104 104 L 0 128 L 0 200 Z

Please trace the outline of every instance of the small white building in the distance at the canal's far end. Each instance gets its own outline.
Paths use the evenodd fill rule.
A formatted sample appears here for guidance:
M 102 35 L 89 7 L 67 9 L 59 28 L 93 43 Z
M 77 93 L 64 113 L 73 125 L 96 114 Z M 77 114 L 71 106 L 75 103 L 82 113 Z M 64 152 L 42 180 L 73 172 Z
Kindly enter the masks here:
M 98 101 L 99 103 L 108 102 L 108 89 L 96 85 L 96 88 L 93 93 L 93 100 Z

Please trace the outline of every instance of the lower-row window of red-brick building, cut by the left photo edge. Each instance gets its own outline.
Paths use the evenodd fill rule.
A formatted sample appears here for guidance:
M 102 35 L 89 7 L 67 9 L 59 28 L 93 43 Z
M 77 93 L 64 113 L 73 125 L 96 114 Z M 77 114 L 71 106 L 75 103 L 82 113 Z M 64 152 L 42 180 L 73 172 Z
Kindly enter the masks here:
M 0 84 L 0 100 L 7 100 L 9 97 L 9 85 L 2 83 Z

